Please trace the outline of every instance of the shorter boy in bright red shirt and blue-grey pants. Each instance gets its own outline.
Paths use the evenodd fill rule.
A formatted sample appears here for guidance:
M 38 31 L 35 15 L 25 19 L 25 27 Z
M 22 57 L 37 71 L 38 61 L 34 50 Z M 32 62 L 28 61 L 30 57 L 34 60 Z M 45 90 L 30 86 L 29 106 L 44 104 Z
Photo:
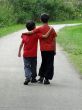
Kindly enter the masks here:
M 28 31 L 34 30 L 35 29 L 34 21 L 28 21 L 26 23 L 26 28 L 28 29 Z M 25 77 L 26 77 L 24 85 L 28 85 L 30 81 L 32 83 L 37 82 L 36 66 L 37 66 L 38 38 L 48 37 L 50 34 L 50 31 L 51 31 L 51 28 L 49 29 L 46 35 L 42 35 L 41 33 L 34 33 L 31 35 L 27 35 L 27 33 L 23 33 L 21 36 L 22 42 L 19 47 L 18 57 L 21 57 L 21 50 L 23 48 L 24 70 L 25 70 Z

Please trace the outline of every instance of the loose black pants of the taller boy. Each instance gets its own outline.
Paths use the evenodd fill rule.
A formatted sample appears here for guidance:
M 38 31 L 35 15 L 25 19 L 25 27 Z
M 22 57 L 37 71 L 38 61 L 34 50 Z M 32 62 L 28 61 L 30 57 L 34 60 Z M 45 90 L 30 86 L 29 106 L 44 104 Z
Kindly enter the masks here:
M 54 51 L 42 51 L 42 63 L 39 69 L 39 76 L 45 79 L 52 79 L 54 75 Z

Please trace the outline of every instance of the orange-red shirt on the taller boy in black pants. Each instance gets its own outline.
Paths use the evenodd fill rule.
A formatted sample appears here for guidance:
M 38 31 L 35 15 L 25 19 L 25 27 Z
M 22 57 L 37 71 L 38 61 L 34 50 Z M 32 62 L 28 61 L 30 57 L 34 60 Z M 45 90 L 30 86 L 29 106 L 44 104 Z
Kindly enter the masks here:
M 34 30 L 35 33 L 42 33 L 42 35 L 46 34 L 49 31 L 48 24 L 45 24 Z M 56 44 L 54 42 L 54 38 L 57 36 L 55 30 L 53 29 L 48 38 L 40 39 L 40 50 L 41 51 L 54 51 L 56 48 Z

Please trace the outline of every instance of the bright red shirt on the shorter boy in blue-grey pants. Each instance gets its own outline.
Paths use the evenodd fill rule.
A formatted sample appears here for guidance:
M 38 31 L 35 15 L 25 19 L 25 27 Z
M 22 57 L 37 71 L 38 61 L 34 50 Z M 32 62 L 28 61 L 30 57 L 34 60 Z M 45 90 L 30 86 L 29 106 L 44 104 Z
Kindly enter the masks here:
M 42 34 L 40 33 L 34 33 L 31 35 L 28 35 L 26 33 L 23 33 L 22 43 L 24 44 L 23 48 L 23 56 L 24 57 L 37 57 L 37 44 L 38 44 L 38 38 L 42 37 Z

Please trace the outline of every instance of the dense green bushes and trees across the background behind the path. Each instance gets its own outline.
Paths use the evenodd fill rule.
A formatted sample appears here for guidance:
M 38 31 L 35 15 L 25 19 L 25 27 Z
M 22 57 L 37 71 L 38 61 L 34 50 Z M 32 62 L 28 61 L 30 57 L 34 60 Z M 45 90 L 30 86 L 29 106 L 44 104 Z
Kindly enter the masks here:
M 47 12 L 50 21 L 82 18 L 81 0 L 0 0 L 0 27 L 25 23 L 29 19 L 40 21 Z

